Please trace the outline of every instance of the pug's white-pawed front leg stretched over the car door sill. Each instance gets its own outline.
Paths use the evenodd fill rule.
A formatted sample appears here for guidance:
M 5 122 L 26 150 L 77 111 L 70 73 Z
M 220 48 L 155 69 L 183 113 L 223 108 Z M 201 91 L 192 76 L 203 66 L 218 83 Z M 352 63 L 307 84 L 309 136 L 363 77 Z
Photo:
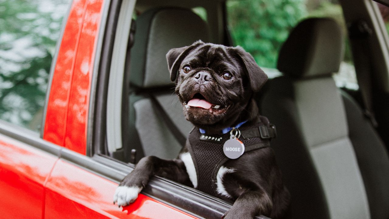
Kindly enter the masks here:
M 189 176 L 186 173 L 184 163 L 179 160 L 163 160 L 158 157 L 143 157 L 135 169 L 124 177 L 117 187 L 114 195 L 114 203 L 119 206 L 129 205 L 138 198 L 138 193 L 144 189 L 153 175 L 187 184 Z

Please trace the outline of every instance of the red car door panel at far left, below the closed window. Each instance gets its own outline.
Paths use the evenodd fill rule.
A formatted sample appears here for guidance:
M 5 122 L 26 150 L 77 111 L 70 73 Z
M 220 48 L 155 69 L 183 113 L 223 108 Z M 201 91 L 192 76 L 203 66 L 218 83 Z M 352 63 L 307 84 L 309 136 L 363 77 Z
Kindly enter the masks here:
M 58 159 L 59 147 L 47 146 L 28 130 L 23 135 L 13 134 L 20 133 L 21 128 L 9 124 L 0 123 L 0 132 L 0 217 L 41 218 L 44 186 Z

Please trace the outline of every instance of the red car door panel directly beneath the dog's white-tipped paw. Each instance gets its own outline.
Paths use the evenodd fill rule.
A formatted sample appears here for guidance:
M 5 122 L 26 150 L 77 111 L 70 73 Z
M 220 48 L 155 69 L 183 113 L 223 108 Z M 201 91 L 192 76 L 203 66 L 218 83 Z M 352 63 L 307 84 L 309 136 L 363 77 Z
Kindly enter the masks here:
M 62 153 L 64 158 L 56 163 L 47 182 L 46 219 L 196 218 L 143 194 L 130 206 L 118 208 L 112 203 L 117 182 L 93 173 L 88 166 L 111 172 L 115 172 L 114 169 L 106 169 L 102 164 L 68 150 Z M 77 162 L 77 158 L 78 165 L 67 160 Z

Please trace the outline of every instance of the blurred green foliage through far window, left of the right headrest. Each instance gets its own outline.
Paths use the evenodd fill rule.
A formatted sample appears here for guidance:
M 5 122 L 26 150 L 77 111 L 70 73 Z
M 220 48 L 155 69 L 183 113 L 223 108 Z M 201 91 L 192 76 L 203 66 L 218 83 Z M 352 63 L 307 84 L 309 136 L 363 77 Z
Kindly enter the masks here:
M 263 67 L 276 67 L 278 51 L 290 30 L 307 14 L 305 0 L 227 1 L 228 25 L 235 44 Z

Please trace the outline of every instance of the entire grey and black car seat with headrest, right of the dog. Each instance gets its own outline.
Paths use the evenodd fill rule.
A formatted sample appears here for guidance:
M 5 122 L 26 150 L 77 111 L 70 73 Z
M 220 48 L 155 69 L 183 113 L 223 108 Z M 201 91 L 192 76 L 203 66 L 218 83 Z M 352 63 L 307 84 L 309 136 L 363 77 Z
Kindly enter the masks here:
M 261 113 L 291 192 L 293 218 L 389 218 L 389 160 L 355 101 L 331 77 L 343 56 L 332 19 L 302 21 L 282 46 L 284 76 L 268 82 Z

